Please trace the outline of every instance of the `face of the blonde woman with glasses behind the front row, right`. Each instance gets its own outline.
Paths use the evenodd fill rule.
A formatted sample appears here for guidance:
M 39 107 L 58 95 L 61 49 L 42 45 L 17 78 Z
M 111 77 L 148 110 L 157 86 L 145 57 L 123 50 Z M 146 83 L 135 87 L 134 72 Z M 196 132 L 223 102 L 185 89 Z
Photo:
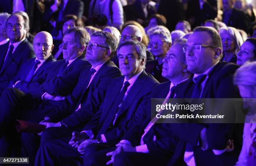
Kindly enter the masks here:
M 224 31 L 220 35 L 222 45 L 223 45 L 223 51 L 233 51 L 235 52 L 236 50 L 236 42 L 234 38 L 227 32 Z

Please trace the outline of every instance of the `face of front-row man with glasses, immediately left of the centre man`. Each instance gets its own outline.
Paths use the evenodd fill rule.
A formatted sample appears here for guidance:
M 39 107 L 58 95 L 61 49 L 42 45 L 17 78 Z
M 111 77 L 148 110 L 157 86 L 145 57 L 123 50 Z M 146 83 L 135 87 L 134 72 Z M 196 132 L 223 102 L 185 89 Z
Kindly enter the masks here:
M 89 62 L 99 62 L 107 56 L 108 45 L 104 37 L 91 37 L 89 45 L 86 47 L 85 59 Z

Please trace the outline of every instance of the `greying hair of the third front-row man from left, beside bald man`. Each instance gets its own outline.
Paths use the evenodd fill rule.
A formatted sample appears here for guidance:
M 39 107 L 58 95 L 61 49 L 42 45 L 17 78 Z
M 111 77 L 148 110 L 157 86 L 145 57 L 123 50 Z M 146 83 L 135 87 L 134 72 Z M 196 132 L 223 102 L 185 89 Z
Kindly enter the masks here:
M 74 32 L 74 38 L 77 42 L 77 45 L 80 47 L 85 46 L 86 42 L 89 42 L 90 35 L 89 33 L 84 29 L 84 27 L 72 27 L 66 30 L 65 35 Z

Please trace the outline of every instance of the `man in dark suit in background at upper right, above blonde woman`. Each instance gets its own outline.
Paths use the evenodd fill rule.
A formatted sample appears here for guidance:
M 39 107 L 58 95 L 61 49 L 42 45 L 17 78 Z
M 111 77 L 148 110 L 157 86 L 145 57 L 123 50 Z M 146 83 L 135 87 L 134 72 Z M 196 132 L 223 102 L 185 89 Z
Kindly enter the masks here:
M 251 21 L 249 17 L 240 10 L 234 8 L 233 0 L 222 0 L 223 3 L 223 20 L 227 26 L 235 27 L 250 32 Z

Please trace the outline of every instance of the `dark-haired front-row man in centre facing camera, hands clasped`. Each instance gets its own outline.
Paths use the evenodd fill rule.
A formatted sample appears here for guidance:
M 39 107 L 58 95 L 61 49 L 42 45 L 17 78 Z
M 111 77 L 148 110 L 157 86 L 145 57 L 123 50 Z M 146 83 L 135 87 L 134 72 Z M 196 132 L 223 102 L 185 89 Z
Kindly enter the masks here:
M 81 133 L 72 133 L 70 145 L 67 140 L 52 140 L 42 144 L 38 150 L 36 165 L 60 164 L 67 159 L 66 156 L 77 159 L 84 154 L 86 146 L 97 142 L 102 143 L 98 144 L 100 147 L 108 148 L 117 143 L 136 121 L 146 117 L 148 97 L 151 88 L 157 84 L 155 79 L 143 71 L 146 47 L 133 40 L 123 42 L 118 47 L 118 58 L 124 76 L 110 82 L 100 110 L 84 126 Z M 50 146 L 51 151 L 47 151 Z M 59 153 L 60 149 L 66 149 L 70 153 Z M 53 157 L 45 158 L 45 153 L 52 153 Z M 58 154 L 54 155 L 56 153 Z

